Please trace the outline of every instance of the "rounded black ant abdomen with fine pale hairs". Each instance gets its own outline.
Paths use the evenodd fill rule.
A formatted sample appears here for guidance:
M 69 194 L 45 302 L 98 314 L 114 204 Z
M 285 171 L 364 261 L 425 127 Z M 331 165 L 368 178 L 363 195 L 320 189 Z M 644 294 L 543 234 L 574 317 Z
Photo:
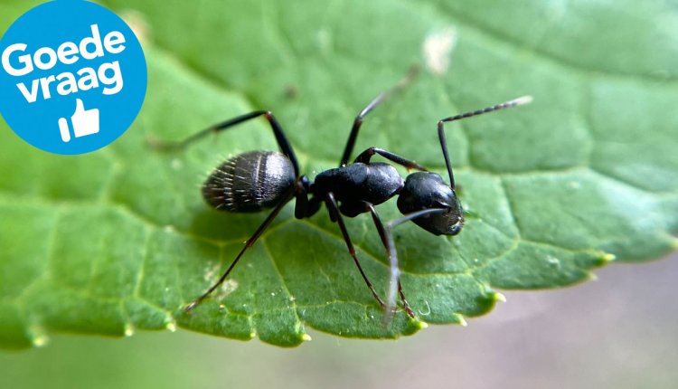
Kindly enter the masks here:
M 295 183 L 292 162 L 275 151 L 250 151 L 218 166 L 202 185 L 212 207 L 228 212 L 259 212 L 290 193 Z

